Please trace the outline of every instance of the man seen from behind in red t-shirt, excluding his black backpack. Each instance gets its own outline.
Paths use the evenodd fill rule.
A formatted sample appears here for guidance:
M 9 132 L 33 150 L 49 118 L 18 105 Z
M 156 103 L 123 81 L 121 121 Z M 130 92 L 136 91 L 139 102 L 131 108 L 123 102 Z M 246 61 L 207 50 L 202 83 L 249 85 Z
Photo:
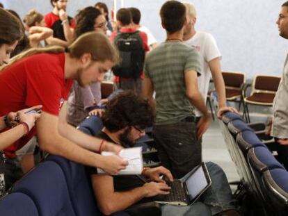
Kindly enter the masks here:
M 120 28 L 119 32 L 113 32 L 111 34 L 111 41 L 114 41 L 114 38 L 117 36 L 117 34 L 120 33 L 135 33 L 137 31 L 136 28 L 133 28 L 131 26 L 131 13 L 127 8 L 121 8 L 118 10 L 117 15 L 117 26 Z M 147 35 L 146 33 L 139 31 L 139 35 L 142 38 L 143 41 L 143 50 L 145 52 L 149 51 L 149 47 L 147 45 Z M 123 90 L 132 89 L 136 90 L 138 94 L 141 94 L 142 90 L 142 78 L 143 75 L 141 73 L 140 78 L 119 78 L 118 76 L 115 77 L 115 83 L 118 85 L 118 88 L 122 88 Z

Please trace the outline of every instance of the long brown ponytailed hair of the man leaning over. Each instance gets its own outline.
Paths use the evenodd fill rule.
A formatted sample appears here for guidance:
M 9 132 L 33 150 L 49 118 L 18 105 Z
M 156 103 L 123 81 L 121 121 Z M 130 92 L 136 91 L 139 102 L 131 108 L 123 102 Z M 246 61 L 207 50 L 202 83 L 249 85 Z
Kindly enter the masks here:
M 84 53 L 90 53 L 94 61 L 104 62 L 110 60 L 114 64 L 118 63 L 118 52 L 106 35 L 99 32 L 89 32 L 77 38 L 67 49 L 54 46 L 31 48 L 24 51 L 12 58 L 7 65 L 1 68 L 1 71 L 27 56 L 33 56 L 38 53 L 64 53 L 65 51 L 69 52 L 72 58 L 81 58 Z

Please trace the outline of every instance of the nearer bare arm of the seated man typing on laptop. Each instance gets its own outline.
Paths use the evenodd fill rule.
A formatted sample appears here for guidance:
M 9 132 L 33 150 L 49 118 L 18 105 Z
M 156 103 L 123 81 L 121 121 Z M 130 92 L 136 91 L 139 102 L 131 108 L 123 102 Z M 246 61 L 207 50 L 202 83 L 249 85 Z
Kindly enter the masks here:
M 111 215 L 124 210 L 144 197 L 153 197 L 157 194 L 168 194 L 170 187 L 165 183 L 146 183 L 142 187 L 125 192 L 115 192 L 111 176 L 91 176 L 93 190 L 99 209 L 104 215 Z

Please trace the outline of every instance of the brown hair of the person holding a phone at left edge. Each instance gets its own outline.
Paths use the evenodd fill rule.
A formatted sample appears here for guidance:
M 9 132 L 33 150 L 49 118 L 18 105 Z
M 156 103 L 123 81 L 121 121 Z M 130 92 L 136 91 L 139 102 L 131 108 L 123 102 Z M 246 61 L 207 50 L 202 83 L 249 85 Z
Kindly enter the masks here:
M 17 17 L 0 8 L 0 46 L 2 44 L 13 44 L 21 40 L 24 29 Z

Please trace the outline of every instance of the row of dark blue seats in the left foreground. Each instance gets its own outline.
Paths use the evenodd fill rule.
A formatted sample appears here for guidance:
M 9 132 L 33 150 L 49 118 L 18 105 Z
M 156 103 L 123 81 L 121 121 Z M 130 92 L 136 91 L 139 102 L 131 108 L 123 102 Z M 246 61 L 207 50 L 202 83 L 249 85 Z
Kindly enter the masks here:
M 86 119 L 79 130 L 95 135 L 102 126 L 99 117 L 93 116 Z M 0 215 L 97 216 L 102 213 L 97 208 L 86 167 L 50 155 L 0 200 Z M 161 215 L 161 210 L 158 203 L 145 203 L 113 215 L 156 216 Z

